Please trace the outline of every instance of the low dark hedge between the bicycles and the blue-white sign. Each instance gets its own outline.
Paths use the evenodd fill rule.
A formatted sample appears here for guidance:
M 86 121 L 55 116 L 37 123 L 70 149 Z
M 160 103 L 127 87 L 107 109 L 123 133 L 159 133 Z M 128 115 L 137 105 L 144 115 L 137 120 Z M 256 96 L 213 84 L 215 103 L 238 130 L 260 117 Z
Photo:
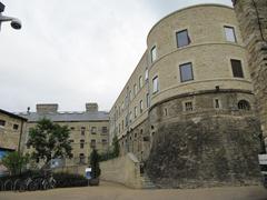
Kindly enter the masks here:
M 88 180 L 80 174 L 53 173 L 56 188 L 87 187 Z

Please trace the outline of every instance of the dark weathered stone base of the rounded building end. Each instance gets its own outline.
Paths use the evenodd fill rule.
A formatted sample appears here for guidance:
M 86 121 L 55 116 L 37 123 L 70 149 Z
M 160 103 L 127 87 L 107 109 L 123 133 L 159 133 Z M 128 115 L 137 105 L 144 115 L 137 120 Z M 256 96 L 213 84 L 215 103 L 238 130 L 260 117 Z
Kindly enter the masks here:
M 220 109 L 212 108 L 212 99 Z M 250 110 L 238 110 L 246 99 Z M 182 102 L 191 100 L 192 111 Z M 146 171 L 161 188 L 255 184 L 260 181 L 257 154 L 260 126 L 254 96 L 237 92 L 176 98 L 150 111 L 154 139 Z M 166 112 L 167 110 L 167 112 Z

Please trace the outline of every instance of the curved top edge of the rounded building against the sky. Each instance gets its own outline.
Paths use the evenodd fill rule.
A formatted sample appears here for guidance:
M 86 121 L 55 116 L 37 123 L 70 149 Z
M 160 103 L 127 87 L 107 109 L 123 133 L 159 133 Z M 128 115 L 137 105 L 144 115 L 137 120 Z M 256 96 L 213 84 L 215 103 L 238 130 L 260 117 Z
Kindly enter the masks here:
M 150 31 L 148 32 L 147 34 L 147 41 L 148 41 L 148 37 L 149 34 L 152 32 L 152 30 L 161 22 L 164 21 L 165 19 L 178 13 L 178 12 L 181 12 L 181 11 L 185 11 L 185 10 L 189 10 L 189 9 L 194 9 L 194 8 L 198 8 L 198 7 L 222 7 L 222 8 L 227 8 L 227 9 L 230 9 L 230 10 L 234 10 L 233 7 L 229 7 L 227 4 L 220 4 L 220 3 L 200 3 L 200 4 L 194 4 L 194 6 L 189 6 L 189 7 L 185 7 L 182 9 L 179 9 L 179 10 L 176 10 L 167 16 L 165 16 L 164 18 L 161 18 L 158 22 L 156 22 L 152 28 L 150 29 Z

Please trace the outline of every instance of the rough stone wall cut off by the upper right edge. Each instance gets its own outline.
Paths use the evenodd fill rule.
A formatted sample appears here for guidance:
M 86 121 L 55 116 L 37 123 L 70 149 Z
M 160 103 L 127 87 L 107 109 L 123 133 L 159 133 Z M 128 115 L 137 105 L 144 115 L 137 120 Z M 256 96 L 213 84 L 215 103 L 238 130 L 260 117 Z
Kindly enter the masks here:
M 267 1 L 233 0 L 248 52 L 261 130 L 267 144 Z

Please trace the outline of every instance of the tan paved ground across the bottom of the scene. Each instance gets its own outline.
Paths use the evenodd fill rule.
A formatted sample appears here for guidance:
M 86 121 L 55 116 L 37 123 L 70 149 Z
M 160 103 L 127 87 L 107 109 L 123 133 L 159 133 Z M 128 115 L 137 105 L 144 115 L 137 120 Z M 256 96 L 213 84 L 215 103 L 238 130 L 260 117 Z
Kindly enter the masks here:
M 120 184 L 101 182 L 99 187 L 0 192 L 0 200 L 267 200 L 267 190 L 263 187 L 132 190 Z

